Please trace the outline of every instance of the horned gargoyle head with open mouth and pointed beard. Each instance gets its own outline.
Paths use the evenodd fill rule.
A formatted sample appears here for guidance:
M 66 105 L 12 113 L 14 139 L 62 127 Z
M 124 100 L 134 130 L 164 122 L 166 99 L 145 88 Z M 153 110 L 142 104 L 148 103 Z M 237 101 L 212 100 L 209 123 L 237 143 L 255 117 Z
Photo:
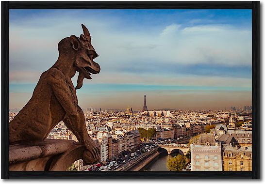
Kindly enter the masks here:
M 91 73 L 98 74 L 100 72 L 99 64 L 93 61 L 99 55 L 91 45 L 89 31 L 83 24 L 82 28 L 83 34 L 80 35 L 80 38 L 72 35 L 58 44 L 59 54 L 74 60 L 73 67 L 79 72 L 75 89 L 80 89 L 83 86 L 84 78 L 91 79 Z

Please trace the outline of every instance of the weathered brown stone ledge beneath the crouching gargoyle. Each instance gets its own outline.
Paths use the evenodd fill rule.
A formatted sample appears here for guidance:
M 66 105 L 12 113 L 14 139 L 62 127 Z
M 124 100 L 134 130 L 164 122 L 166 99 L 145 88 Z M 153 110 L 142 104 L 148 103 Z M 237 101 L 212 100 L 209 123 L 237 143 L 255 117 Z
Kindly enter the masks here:
M 10 145 L 9 170 L 65 171 L 82 159 L 84 149 L 83 143 L 56 139 Z

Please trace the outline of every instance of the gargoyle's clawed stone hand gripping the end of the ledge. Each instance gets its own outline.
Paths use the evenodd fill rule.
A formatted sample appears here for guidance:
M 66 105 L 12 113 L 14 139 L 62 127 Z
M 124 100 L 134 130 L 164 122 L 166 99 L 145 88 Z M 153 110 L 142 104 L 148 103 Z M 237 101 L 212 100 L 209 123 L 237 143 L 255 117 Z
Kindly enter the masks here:
M 86 150 L 83 153 L 83 160 L 87 164 L 93 164 L 100 160 L 99 146 L 94 140 L 84 141 Z

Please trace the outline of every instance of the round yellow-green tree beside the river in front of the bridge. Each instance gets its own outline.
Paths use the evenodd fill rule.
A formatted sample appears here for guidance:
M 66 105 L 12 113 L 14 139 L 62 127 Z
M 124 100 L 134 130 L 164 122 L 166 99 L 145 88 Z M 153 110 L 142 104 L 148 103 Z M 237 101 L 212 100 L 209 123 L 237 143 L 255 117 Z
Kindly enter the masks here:
M 166 166 L 168 170 L 171 171 L 182 171 L 186 165 L 186 158 L 181 154 L 174 156 L 167 160 Z

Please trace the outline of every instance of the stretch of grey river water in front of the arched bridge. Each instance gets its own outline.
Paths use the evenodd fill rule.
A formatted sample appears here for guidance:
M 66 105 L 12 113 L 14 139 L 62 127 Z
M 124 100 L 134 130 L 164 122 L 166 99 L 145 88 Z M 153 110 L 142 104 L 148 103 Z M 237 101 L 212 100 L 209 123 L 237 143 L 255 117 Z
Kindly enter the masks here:
M 154 160 L 152 160 L 148 165 L 146 165 L 140 171 L 167 171 L 166 161 L 169 158 L 176 156 L 179 153 L 167 154 L 166 152 L 160 153 Z M 188 159 L 186 157 L 186 159 Z

